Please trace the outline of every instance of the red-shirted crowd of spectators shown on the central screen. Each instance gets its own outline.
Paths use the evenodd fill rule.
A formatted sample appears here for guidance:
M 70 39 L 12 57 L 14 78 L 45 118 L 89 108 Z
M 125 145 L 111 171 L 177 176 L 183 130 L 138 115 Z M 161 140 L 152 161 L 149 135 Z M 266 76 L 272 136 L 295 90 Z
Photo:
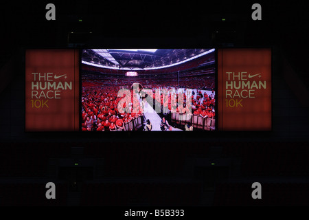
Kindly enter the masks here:
M 131 91 L 131 103 L 121 103 L 125 111 L 119 112 L 119 101 L 126 98 L 125 95 L 117 97 L 119 87 L 93 86 L 90 82 L 83 82 L 82 85 L 84 85 L 82 87 L 82 131 L 122 131 L 124 130 L 124 124 L 143 115 L 143 109 L 139 100 L 133 98 L 133 91 Z M 206 91 L 202 92 L 201 89 L 194 89 L 195 92 L 193 91 L 191 97 L 192 109 L 189 109 L 190 105 L 187 105 L 186 89 L 182 89 L 182 92 L 179 93 L 176 92 L 179 87 L 168 83 L 165 83 L 164 86 L 153 83 L 148 85 L 148 88 L 152 89 L 154 103 L 161 104 L 161 111 L 188 113 L 192 110 L 191 112 L 194 115 L 215 118 L 214 109 L 216 101 L 214 98 L 214 89 L 211 91 L 211 94 L 207 94 Z M 157 89 L 169 90 L 173 88 L 175 92 L 167 96 L 164 93 L 161 93 L 161 95 L 157 94 L 156 96 Z M 179 103 L 179 99 L 181 99 L 180 103 L 183 102 L 183 106 L 177 104 Z M 135 110 L 137 108 L 137 111 L 133 111 L 133 107 Z

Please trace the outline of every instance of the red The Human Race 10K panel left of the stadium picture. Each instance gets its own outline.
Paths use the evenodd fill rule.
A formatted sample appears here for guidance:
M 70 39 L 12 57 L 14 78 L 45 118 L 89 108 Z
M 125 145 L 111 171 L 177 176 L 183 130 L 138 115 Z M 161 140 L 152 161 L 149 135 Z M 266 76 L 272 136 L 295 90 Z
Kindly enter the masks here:
M 25 131 L 78 131 L 78 50 L 27 50 Z

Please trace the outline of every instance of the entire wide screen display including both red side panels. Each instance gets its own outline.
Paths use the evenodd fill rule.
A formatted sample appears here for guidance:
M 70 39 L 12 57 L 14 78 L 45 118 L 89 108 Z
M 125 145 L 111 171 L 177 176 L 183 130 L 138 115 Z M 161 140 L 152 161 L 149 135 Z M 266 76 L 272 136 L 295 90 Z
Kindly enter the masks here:
M 25 131 L 271 131 L 271 49 L 25 52 Z

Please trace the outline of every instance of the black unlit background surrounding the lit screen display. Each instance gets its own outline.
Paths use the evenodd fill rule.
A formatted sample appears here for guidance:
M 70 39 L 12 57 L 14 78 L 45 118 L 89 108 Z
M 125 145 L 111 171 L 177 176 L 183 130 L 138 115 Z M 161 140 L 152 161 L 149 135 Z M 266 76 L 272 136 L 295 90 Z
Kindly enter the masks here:
M 308 5 L 54 1 L 56 21 L 47 21 L 47 3 L 0 3 L 1 206 L 309 205 Z M 262 21 L 251 19 L 253 3 Z M 271 47 L 273 129 L 25 133 L 25 49 L 101 46 Z M 52 201 L 48 181 L 56 184 Z M 262 199 L 251 198 L 255 181 Z

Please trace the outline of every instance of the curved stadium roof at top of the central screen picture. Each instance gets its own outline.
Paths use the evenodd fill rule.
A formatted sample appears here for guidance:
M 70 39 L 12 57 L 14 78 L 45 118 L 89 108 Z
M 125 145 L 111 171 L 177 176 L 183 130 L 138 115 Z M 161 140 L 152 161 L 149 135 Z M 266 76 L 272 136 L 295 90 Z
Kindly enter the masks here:
M 82 63 L 107 69 L 162 69 L 192 61 L 214 51 L 214 49 L 85 49 L 82 51 Z

